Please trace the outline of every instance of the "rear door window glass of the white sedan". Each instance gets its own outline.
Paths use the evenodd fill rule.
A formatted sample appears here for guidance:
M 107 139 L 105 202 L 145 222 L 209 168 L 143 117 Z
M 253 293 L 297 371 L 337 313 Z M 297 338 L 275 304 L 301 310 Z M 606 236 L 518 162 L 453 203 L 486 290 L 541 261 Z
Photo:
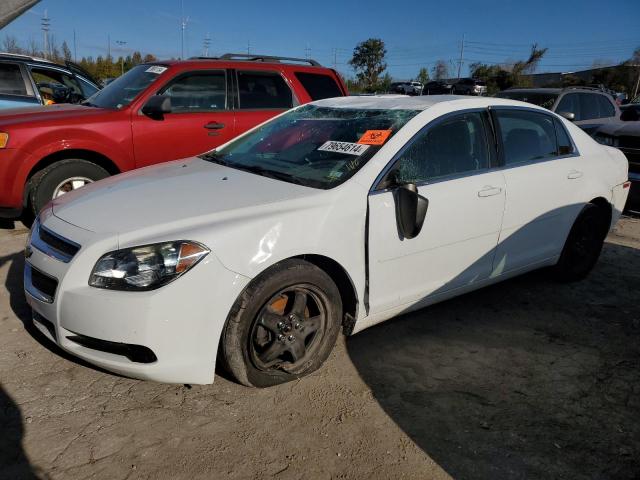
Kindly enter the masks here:
M 524 110 L 494 110 L 500 126 L 506 165 L 558 155 L 553 118 Z

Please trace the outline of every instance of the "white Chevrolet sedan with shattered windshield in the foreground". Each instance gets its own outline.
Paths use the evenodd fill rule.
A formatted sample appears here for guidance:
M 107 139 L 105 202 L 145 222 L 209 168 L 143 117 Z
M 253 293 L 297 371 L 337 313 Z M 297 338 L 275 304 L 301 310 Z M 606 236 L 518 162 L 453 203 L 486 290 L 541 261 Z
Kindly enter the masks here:
M 593 268 L 627 161 L 513 100 L 352 97 L 53 200 L 27 243 L 35 325 L 124 375 L 249 386 L 358 332 L 523 272 Z

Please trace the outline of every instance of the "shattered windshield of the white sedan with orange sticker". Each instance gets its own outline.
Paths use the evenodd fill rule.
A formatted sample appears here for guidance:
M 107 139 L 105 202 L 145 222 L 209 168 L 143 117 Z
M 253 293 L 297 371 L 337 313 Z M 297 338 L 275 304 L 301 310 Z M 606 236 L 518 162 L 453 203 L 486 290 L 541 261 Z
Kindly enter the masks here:
M 352 177 L 417 113 L 306 105 L 201 158 L 329 189 Z

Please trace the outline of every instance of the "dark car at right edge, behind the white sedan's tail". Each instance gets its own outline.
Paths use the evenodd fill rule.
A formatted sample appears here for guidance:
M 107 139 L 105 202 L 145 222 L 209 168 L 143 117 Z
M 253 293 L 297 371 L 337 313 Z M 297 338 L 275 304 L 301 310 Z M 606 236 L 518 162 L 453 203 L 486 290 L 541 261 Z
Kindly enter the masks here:
M 622 116 L 629 112 L 623 112 Z M 603 145 L 616 147 L 622 151 L 629 161 L 629 180 L 631 191 L 627 200 L 627 208 L 640 213 L 640 122 L 619 122 L 600 127 L 593 138 Z

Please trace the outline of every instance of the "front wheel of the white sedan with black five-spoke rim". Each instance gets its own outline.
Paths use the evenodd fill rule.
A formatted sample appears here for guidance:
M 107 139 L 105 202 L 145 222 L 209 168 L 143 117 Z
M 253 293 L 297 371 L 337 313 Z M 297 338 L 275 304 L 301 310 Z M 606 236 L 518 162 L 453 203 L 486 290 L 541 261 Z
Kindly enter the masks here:
M 341 319 L 340 293 L 331 277 L 307 261 L 285 260 L 240 295 L 222 332 L 219 359 L 243 385 L 285 383 L 323 364 Z

